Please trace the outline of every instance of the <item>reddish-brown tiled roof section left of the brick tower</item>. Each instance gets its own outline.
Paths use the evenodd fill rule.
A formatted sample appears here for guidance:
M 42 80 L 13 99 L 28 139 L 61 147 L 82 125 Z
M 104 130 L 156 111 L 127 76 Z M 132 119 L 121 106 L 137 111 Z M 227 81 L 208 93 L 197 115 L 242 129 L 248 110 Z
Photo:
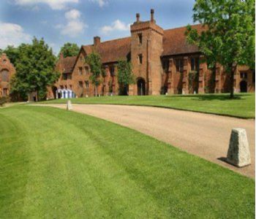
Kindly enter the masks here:
M 127 58 L 131 52 L 131 37 L 113 39 L 101 42 L 97 47 L 93 45 L 83 46 L 87 54 L 96 50 L 102 58 L 102 63 L 116 62 L 120 58 Z

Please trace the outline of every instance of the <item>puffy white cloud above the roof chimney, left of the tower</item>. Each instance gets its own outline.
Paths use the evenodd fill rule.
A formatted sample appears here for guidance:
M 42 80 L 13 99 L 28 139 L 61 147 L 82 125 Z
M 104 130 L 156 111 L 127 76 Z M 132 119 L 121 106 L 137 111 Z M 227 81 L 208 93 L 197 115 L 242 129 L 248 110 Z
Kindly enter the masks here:
M 76 9 L 72 9 L 65 13 L 65 18 L 67 23 L 62 25 L 56 25 L 56 28 L 61 29 L 62 35 L 67 35 L 69 37 L 77 37 L 82 34 L 84 29 L 87 27 L 83 20 L 80 20 L 80 12 Z

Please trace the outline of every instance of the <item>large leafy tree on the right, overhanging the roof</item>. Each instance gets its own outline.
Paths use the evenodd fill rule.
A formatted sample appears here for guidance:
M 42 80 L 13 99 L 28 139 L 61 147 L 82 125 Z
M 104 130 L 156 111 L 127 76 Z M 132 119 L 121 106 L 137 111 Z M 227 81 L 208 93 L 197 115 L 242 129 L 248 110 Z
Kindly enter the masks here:
M 203 24 L 198 33 L 187 28 L 187 39 L 209 59 L 222 64 L 230 74 L 233 98 L 234 74 L 238 65 L 255 67 L 255 0 L 197 0 L 193 20 Z

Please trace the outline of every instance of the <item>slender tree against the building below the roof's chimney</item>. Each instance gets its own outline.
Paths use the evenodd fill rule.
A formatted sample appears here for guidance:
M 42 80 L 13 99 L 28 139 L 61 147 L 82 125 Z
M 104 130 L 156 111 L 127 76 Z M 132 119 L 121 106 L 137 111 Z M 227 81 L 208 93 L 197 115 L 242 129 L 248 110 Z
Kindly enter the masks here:
M 86 64 L 89 64 L 91 69 L 91 83 L 94 85 L 94 96 L 98 95 L 98 86 L 100 85 L 100 75 L 105 72 L 102 70 L 102 62 L 98 53 L 90 53 L 85 58 Z

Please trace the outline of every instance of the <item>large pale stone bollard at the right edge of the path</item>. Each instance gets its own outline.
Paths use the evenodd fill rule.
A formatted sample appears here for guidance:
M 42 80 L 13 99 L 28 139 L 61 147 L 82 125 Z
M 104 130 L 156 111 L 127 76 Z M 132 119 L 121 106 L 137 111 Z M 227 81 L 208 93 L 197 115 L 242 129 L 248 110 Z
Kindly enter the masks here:
M 227 162 L 238 167 L 251 164 L 249 144 L 244 128 L 232 129 L 230 146 L 227 151 Z

